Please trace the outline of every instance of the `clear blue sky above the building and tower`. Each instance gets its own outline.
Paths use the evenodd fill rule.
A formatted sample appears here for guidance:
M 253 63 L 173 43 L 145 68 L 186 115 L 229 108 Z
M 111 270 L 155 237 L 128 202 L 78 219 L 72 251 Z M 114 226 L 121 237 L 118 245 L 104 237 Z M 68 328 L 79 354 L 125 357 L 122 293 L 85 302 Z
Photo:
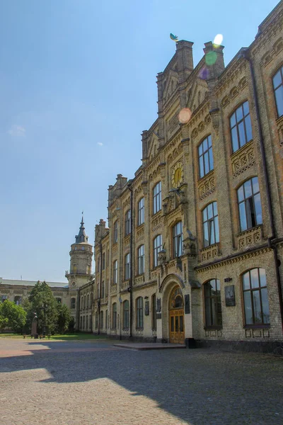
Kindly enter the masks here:
M 169 34 L 195 43 L 195 64 L 223 34 L 228 64 L 277 0 L 230 3 L 0 2 L 2 278 L 65 281 L 81 210 L 93 243 L 108 186 L 141 164 Z

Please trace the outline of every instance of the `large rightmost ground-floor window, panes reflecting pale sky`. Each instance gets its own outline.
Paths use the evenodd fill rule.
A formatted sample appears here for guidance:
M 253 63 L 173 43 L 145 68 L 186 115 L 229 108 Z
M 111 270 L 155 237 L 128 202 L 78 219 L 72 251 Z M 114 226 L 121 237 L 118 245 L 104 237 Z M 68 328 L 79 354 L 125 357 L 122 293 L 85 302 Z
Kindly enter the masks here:
M 269 324 L 266 276 L 264 268 L 253 268 L 242 276 L 246 324 Z

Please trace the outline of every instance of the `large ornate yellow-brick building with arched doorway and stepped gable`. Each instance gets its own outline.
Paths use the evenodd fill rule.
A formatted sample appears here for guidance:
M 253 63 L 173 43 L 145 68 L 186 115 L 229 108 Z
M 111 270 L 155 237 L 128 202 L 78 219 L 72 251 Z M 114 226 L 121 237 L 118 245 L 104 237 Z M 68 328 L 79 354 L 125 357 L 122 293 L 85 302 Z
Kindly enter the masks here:
M 224 67 L 192 42 L 157 75 L 142 164 L 96 225 L 93 331 L 148 341 L 282 341 L 283 2 Z

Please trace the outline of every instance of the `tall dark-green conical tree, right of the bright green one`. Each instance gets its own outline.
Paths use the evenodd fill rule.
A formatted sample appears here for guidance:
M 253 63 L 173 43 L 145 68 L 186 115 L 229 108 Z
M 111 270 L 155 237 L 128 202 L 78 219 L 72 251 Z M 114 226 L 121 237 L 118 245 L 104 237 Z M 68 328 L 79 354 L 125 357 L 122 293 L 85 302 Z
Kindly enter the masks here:
M 52 290 L 46 282 L 38 282 L 28 297 L 28 319 L 31 324 L 33 313 L 37 315 L 37 332 L 42 334 L 45 328 L 46 333 L 54 334 L 57 326 L 57 301 L 52 294 Z

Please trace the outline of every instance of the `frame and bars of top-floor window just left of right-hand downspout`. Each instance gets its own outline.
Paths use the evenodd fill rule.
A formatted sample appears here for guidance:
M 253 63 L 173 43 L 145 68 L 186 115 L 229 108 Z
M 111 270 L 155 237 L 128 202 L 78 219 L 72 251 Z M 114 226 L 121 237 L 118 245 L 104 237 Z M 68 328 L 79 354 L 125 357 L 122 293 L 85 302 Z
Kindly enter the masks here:
M 248 104 L 248 112 L 247 113 L 245 112 L 245 108 L 244 108 L 244 105 L 246 105 L 246 104 Z M 240 115 L 240 118 L 238 118 L 238 115 L 241 114 L 241 113 L 242 113 L 242 117 Z M 233 122 L 233 117 L 235 119 L 234 122 Z M 245 142 L 243 143 L 243 145 L 241 145 L 241 132 L 239 131 L 239 128 L 241 128 L 242 123 L 243 123 L 244 139 L 245 139 Z M 247 131 L 247 124 L 248 123 L 250 125 L 250 135 Z M 253 128 L 252 128 L 252 123 L 251 123 L 251 120 L 250 120 L 250 104 L 249 104 L 248 99 L 246 99 L 245 101 L 240 103 L 240 105 L 238 105 L 233 110 L 233 112 L 229 116 L 229 127 L 230 127 L 232 153 L 237 152 L 239 149 L 241 149 L 241 147 L 243 147 L 248 142 L 250 142 L 250 140 L 253 140 Z M 236 129 L 236 133 L 233 132 L 234 129 Z M 233 138 L 233 134 L 235 135 L 235 139 Z M 236 149 L 234 149 L 234 141 L 237 142 L 237 143 L 235 143 L 235 145 L 237 145 Z

